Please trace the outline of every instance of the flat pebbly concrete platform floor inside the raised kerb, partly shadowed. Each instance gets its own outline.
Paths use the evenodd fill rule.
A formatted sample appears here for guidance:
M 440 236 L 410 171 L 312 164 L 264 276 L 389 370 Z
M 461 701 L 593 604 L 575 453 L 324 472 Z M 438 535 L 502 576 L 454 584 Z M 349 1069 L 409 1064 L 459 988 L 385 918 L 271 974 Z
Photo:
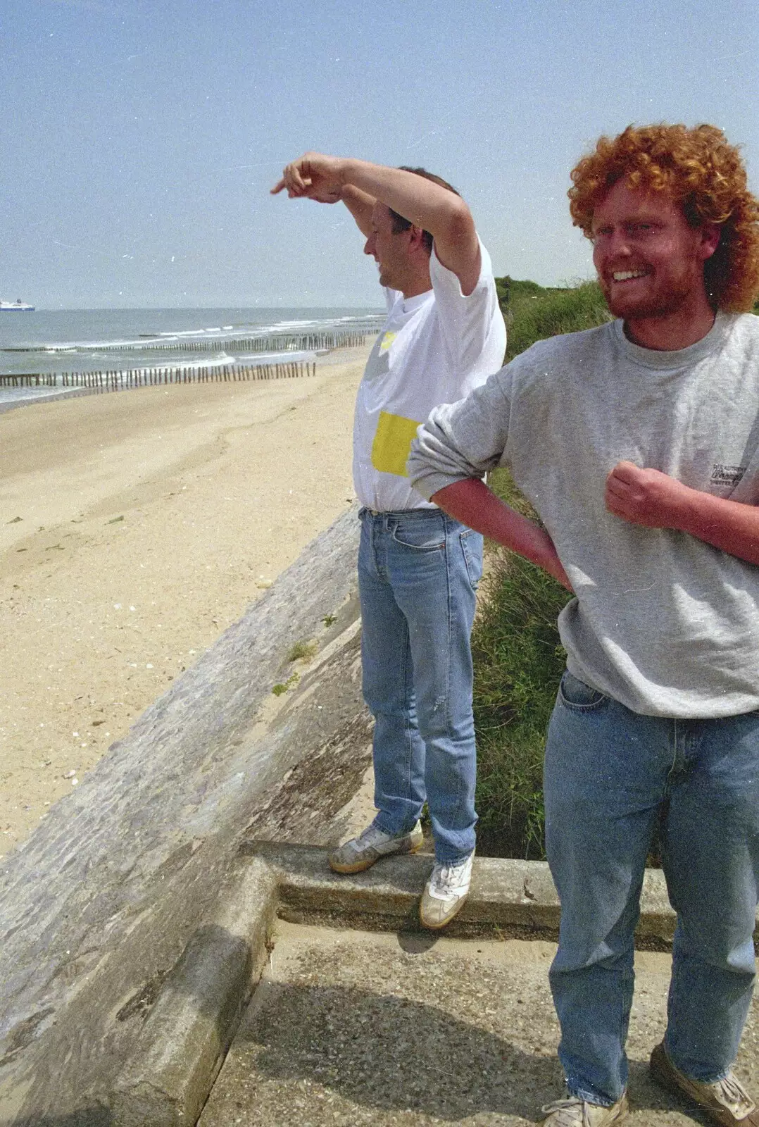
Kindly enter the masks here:
M 527 1127 L 561 1094 L 553 944 L 283 923 L 274 938 L 199 1127 Z M 648 1075 L 669 968 L 636 955 L 631 1127 L 705 1121 Z M 736 1071 L 759 1092 L 757 1001 Z

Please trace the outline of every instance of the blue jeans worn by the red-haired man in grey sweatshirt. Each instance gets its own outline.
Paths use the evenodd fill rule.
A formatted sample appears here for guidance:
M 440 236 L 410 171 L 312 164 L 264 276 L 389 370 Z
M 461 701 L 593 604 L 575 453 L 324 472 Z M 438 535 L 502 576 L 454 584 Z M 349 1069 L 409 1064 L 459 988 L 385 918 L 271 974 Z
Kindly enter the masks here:
M 694 1080 L 735 1059 L 754 980 L 759 713 L 640 716 L 566 672 L 545 755 L 546 849 L 561 898 L 551 988 L 568 1086 L 627 1082 L 633 931 L 651 835 L 677 912 L 664 1042 Z

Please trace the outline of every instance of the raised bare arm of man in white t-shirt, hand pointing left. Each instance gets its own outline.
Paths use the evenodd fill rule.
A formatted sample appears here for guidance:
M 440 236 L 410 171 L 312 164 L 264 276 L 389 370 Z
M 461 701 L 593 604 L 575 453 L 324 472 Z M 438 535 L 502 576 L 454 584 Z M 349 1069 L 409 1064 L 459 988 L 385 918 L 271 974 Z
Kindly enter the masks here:
M 306 152 L 286 166 L 271 192 L 286 189 L 291 198 L 305 196 L 321 203 L 337 203 L 347 187 L 380 199 L 414 227 L 429 231 L 439 260 L 458 277 L 462 292 L 472 293 L 480 277 L 474 220 L 461 196 L 439 184 L 401 168 Z M 345 202 L 358 222 L 350 203 Z

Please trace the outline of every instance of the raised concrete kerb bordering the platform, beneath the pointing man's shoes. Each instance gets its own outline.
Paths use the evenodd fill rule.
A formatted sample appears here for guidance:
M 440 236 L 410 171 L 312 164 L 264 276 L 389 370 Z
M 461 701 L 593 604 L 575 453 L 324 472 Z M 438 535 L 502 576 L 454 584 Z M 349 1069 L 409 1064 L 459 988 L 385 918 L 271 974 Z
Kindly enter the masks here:
M 266 950 L 271 949 L 266 941 L 275 909 L 280 920 L 298 925 L 314 921 L 343 929 L 360 924 L 359 935 L 366 935 L 367 928 L 395 931 L 403 949 L 428 950 L 439 938 L 422 932 L 417 915 L 430 857 L 387 858 L 350 877 L 331 872 L 322 849 L 244 842 L 241 852 L 249 857 L 250 871 L 245 875 L 243 868 L 213 924 L 190 940 L 115 1084 L 109 1103 L 114 1127 L 195 1122 L 234 1033 L 239 1006 L 250 993 Z M 663 896 L 661 873 L 649 873 L 639 943 L 667 947 L 675 917 L 671 908 L 663 911 Z M 544 863 L 477 858 L 467 903 L 446 929 L 445 939 L 476 935 L 477 943 L 485 944 L 490 940 L 493 956 L 492 937 L 501 948 L 518 937 L 520 944 L 509 950 L 521 952 L 529 962 L 535 951 L 545 949 L 545 937 L 557 933 L 557 925 L 559 900 Z M 312 928 L 311 932 L 330 941 L 329 931 Z M 287 929 L 285 934 L 289 934 Z M 236 947 L 230 946 L 231 937 L 240 937 Z M 372 958 L 374 946 L 382 942 L 378 938 L 366 942 L 366 957 Z M 477 944 L 468 950 L 479 950 Z M 448 991 L 453 995 L 457 988 L 453 983 Z M 544 1008 L 529 1018 L 534 1036 L 545 1033 L 544 1018 Z M 553 1017 L 548 1024 L 555 1024 Z M 301 1032 L 306 1041 L 314 1036 L 307 1022 Z

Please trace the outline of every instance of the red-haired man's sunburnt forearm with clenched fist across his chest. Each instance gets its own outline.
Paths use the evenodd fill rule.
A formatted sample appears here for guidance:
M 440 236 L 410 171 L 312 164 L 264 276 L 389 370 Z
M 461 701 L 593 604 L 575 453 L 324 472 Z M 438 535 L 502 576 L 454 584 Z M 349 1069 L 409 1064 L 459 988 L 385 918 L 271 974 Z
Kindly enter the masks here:
M 649 529 L 677 529 L 759 565 L 759 508 L 691 489 L 660 470 L 618 462 L 606 479 L 609 513 Z

